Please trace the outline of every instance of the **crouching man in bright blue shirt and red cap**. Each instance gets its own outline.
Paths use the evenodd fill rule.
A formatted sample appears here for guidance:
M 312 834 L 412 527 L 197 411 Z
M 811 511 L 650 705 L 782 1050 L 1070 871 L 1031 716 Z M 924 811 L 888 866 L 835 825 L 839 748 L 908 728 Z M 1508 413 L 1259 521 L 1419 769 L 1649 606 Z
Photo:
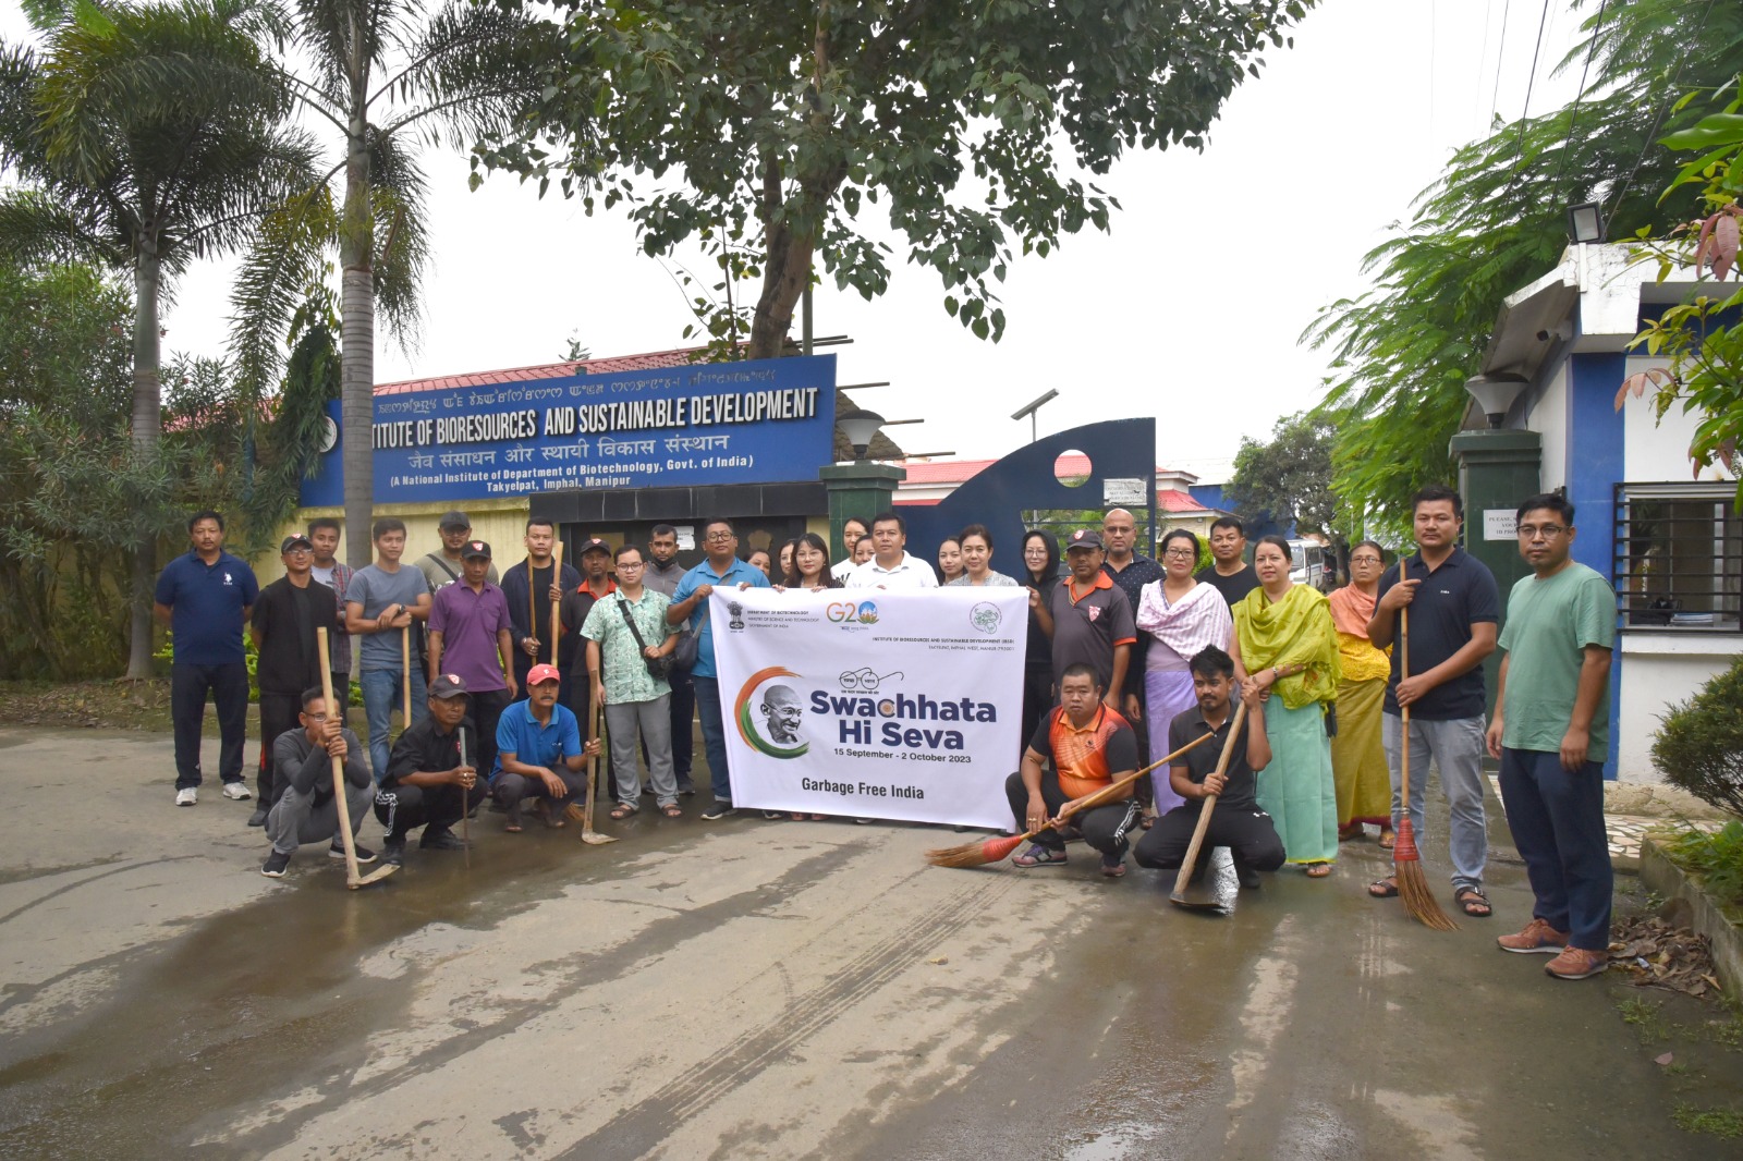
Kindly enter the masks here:
M 497 769 L 490 776 L 497 802 L 509 812 L 504 830 L 519 833 L 521 802 L 537 798 L 546 826 L 563 826 L 563 811 L 586 791 L 582 764 L 600 753 L 600 739 L 580 744 L 580 725 L 560 706 L 563 676 L 556 666 L 526 671 L 526 701 L 502 711 L 497 722 Z

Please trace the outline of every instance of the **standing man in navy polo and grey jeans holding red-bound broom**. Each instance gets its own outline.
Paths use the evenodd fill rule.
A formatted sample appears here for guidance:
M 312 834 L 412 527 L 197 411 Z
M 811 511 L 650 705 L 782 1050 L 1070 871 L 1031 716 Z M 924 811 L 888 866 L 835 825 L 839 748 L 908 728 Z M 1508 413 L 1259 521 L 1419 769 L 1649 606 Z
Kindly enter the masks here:
M 1483 657 L 1495 652 L 1501 591 L 1489 567 L 1459 547 L 1464 504 L 1445 485 L 1429 485 L 1410 502 L 1417 553 L 1386 570 L 1380 598 L 1368 621 L 1375 648 L 1400 642 L 1400 610 L 1410 608 L 1410 676 L 1403 676 L 1405 650 L 1393 648 L 1393 676 L 1386 683 L 1382 737 L 1393 767 L 1393 830 L 1403 811 L 1400 758 L 1403 718 L 1410 706 L 1410 823 L 1424 845 L 1422 804 L 1429 758 L 1440 769 L 1440 786 L 1452 807 L 1448 852 L 1454 901 L 1471 919 L 1490 913 L 1483 898 L 1489 830 L 1483 819 Z M 1377 900 L 1398 894 L 1394 877 L 1368 887 Z

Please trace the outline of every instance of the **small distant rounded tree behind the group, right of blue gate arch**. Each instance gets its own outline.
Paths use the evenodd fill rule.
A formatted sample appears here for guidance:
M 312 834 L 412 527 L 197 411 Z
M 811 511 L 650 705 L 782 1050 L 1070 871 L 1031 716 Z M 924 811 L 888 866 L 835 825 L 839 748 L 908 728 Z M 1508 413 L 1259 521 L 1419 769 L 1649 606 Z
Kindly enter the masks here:
M 1243 521 L 1295 525 L 1344 542 L 1349 528 L 1332 492 L 1332 443 L 1337 431 L 1311 411 L 1286 415 L 1271 441 L 1241 438 L 1227 500 Z

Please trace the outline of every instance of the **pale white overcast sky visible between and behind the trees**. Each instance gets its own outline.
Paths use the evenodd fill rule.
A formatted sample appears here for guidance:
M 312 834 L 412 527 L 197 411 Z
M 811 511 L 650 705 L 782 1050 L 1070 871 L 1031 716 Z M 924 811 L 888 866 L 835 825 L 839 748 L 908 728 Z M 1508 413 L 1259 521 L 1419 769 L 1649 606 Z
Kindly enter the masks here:
M 837 349 L 840 382 L 892 382 L 858 392 L 863 406 L 926 420 L 892 431 L 910 452 L 1002 455 L 1028 439 L 1011 411 L 1056 387 L 1042 434 L 1154 413 L 1159 462 L 1217 478 L 1241 436 L 1318 401 L 1328 357 L 1297 340 L 1365 288 L 1361 255 L 1492 108 L 1520 115 L 1541 16 L 1504 0 L 1321 0 L 1293 51 L 1269 52 L 1236 91 L 1203 153 L 1138 153 L 1098 180 L 1124 206 L 1110 234 L 1013 263 L 1004 342 L 948 317 L 938 275 L 906 265 L 894 237 L 889 293 L 866 303 L 821 288 L 816 333 L 854 338 Z M 0 0 L 0 33 L 28 35 L 16 0 Z M 1576 33 L 1553 0 L 1534 113 L 1570 99 L 1577 70 L 1550 70 Z M 376 382 L 551 363 L 572 331 L 594 356 L 685 345 L 685 296 L 621 214 L 540 202 L 505 174 L 467 192 L 457 153 L 425 166 L 436 258 L 422 343 L 380 336 Z M 207 263 L 181 282 L 166 352 L 221 352 L 228 277 Z

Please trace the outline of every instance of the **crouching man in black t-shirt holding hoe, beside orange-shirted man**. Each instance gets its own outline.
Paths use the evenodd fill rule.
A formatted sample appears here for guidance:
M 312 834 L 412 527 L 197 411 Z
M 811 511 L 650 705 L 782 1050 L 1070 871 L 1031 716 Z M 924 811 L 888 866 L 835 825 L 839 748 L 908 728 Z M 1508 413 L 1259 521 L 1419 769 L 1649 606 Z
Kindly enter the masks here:
M 1197 710 L 1177 715 L 1168 725 L 1168 750 L 1173 753 L 1187 743 L 1213 734 L 1213 741 L 1194 746 L 1168 769 L 1168 784 L 1185 798 L 1173 811 L 1156 819 L 1156 825 L 1138 840 L 1131 859 L 1138 866 L 1175 870 L 1187 858 L 1192 832 L 1197 830 L 1204 798 L 1217 795 L 1217 809 L 1204 826 L 1204 844 L 1199 847 L 1197 866 L 1210 861 L 1211 847 L 1229 847 L 1234 856 L 1234 875 L 1243 887 L 1258 886 L 1258 872 L 1283 866 L 1283 838 L 1278 837 L 1271 816 L 1258 809 L 1253 798 L 1255 772 L 1271 764 L 1271 739 L 1265 737 L 1265 703 L 1255 690 L 1246 699 L 1245 739 L 1238 737 L 1229 767 L 1217 774 L 1217 760 L 1229 743 L 1231 697 L 1234 696 L 1234 661 L 1215 645 L 1197 652 L 1190 661 L 1192 692 Z

